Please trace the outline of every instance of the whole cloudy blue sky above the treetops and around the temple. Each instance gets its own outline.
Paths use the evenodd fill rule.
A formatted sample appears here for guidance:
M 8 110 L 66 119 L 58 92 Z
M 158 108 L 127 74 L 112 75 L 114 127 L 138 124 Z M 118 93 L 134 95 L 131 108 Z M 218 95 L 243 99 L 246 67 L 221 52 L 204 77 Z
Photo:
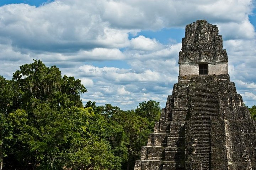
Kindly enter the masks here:
M 0 74 L 41 59 L 82 80 L 82 101 L 133 109 L 165 107 L 178 77 L 185 26 L 216 24 L 229 74 L 248 106 L 256 104 L 256 10 L 252 0 L 0 0 Z

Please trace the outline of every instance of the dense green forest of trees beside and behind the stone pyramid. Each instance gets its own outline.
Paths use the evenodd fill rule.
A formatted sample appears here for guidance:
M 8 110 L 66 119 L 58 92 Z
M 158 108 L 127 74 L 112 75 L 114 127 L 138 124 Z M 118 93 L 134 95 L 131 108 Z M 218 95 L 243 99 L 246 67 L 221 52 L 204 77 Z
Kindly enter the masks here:
M 0 170 L 133 169 L 160 118 L 159 102 L 130 111 L 83 106 L 85 92 L 79 79 L 41 60 L 20 66 L 12 80 L 0 76 Z M 256 106 L 249 110 L 256 119 Z

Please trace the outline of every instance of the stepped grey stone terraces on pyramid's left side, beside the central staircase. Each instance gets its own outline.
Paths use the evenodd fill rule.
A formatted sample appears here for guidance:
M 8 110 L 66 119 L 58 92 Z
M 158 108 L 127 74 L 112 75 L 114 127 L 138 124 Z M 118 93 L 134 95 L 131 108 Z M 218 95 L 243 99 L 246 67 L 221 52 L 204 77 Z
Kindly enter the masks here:
M 167 97 L 154 133 L 142 147 L 134 170 L 185 170 L 185 119 L 188 113 L 188 84 L 174 86 Z M 184 104 L 186 103 L 186 104 Z

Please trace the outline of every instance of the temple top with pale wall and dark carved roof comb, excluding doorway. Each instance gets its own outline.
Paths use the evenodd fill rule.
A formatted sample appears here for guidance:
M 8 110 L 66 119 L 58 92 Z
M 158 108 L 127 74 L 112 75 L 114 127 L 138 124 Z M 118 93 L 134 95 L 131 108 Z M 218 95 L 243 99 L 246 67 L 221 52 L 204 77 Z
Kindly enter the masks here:
M 217 26 L 206 20 L 186 26 L 179 54 L 180 76 L 199 75 L 199 64 L 208 65 L 208 75 L 228 74 L 228 55 L 218 33 Z

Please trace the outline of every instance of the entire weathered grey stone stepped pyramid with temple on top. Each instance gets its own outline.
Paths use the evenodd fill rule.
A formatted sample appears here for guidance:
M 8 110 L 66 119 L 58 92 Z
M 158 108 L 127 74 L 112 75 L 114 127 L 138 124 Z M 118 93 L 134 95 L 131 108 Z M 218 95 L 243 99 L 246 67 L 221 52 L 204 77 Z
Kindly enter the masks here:
M 256 170 L 256 129 L 215 25 L 186 26 L 178 83 L 135 170 Z

